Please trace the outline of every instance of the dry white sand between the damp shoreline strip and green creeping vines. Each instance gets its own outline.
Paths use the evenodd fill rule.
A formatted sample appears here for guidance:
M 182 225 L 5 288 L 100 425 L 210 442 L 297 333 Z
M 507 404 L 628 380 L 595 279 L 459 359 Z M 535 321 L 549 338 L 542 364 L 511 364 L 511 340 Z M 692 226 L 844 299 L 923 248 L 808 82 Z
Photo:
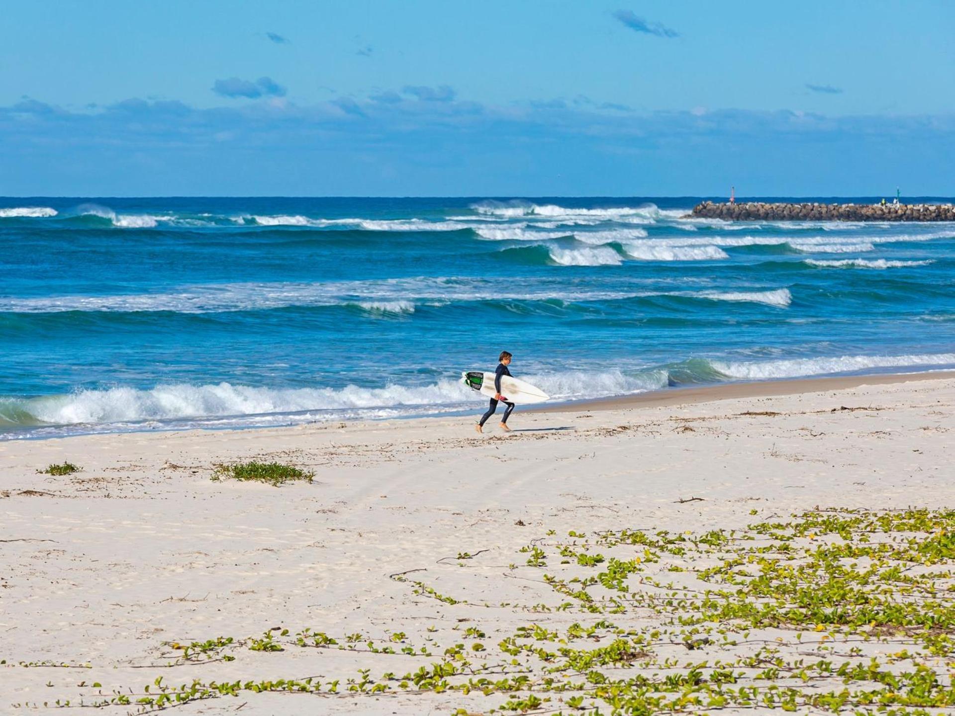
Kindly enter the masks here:
M 866 410 L 838 410 L 841 407 Z M 835 410 L 835 411 L 834 411 Z M 741 414 L 774 411 L 780 414 Z M 113 688 L 263 678 L 398 675 L 436 661 L 289 648 L 186 663 L 167 642 L 276 626 L 440 649 L 479 624 L 491 646 L 522 623 L 579 615 L 450 605 L 389 579 L 422 569 L 438 593 L 552 602 L 518 550 L 547 530 L 708 530 L 816 505 L 955 503 L 955 380 L 762 398 L 513 416 L 236 432 L 95 435 L 0 443 L 0 712 Z M 214 482 L 217 462 L 308 467 L 313 484 Z M 36 471 L 69 460 L 79 474 Z M 681 498 L 703 500 L 680 504 Z M 758 516 L 750 516 L 755 509 Z M 523 526 L 516 522 L 523 523 Z M 459 553 L 477 553 L 458 566 Z M 439 562 L 442 558 L 451 558 Z M 468 620 L 468 621 L 459 621 Z M 435 631 L 429 632 L 428 627 Z M 431 640 L 431 641 L 428 641 Z M 384 642 L 379 642 L 384 643 Z M 396 643 L 396 646 L 403 644 Z M 92 664 L 92 668 L 18 663 Z M 101 688 L 89 685 L 99 682 Z M 47 685 L 50 684 L 50 685 Z M 139 689 L 141 690 L 141 689 Z M 448 713 L 502 696 L 326 698 L 244 693 L 177 713 Z M 125 713 L 128 708 L 107 708 Z

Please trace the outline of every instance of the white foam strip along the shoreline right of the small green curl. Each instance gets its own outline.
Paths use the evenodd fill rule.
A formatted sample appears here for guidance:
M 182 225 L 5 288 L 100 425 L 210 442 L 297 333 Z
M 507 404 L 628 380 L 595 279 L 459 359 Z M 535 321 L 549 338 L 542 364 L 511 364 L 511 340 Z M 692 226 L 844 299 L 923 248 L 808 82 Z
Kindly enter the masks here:
M 711 361 L 714 369 L 730 378 L 761 380 L 804 375 L 844 373 L 874 368 L 917 368 L 955 363 L 955 353 L 929 355 L 842 355 L 827 358 L 794 358 L 777 361 Z

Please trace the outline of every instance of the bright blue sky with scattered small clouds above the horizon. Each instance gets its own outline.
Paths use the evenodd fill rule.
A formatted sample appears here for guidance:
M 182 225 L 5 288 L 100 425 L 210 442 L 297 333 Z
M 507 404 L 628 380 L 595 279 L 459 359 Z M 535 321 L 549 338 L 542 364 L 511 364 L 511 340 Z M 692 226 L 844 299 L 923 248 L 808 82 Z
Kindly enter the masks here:
M 3 15 L 3 196 L 955 195 L 948 0 Z

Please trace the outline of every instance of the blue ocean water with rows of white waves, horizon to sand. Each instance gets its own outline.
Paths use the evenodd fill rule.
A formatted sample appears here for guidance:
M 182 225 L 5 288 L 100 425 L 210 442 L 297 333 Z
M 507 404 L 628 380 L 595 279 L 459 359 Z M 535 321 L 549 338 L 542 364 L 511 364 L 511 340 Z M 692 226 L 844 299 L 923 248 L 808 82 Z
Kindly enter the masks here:
M 0 199 L 0 439 L 955 366 L 955 224 L 697 200 Z

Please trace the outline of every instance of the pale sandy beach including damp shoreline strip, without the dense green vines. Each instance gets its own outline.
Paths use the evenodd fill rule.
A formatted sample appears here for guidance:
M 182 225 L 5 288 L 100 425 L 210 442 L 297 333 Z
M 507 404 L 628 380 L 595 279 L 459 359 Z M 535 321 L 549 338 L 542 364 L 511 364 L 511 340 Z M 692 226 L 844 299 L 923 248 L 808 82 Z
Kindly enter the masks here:
M 610 713 L 596 681 L 555 684 L 584 684 L 594 670 L 660 673 L 668 658 L 681 674 L 688 660 L 732 663 L 755 648 L 743 626 L 720 622 L 733 642 L 677 637 L 672 615 L 610 608 L 603 577 L 584 585 L 599 599 L 568 597 L 572 570 L 590 565 L 562 550 L 624 530 L 744 534 L 805 511 L 938 510 L 955 498 L 951 373 L 754 385 L 519 410 L 506 435 L 494 420 L 477 435 L 465 416 L 2 442 L 0 710 L 59 700 L 133 713 L 161 706 L 136 702 L 174 686 L 193 694 L 178 713 L 486 713 L 508 702 L 509 712 L 570 713 L 577 695 Z M 210 479 L 217 464 L 253 459 L 313 471 L 313 481 Z M 81 470 L 38 473 L 64 461 Z M 649 569 L 651 551 L 666 551 L 646 544 L 606 550 L 623 550 L 634 579 L 644 568 L 634 555 Z M 627 589 L 652 591 L 645 577 Z M 639 634 L 644 650 L 549 670 L 570 659 L 558 656 L 561 639 L 579 646 L 575 628 L 591 629 L 580 637 L 588 649 Z M 798 629 L 798 643 L 796 631 L 762 624 L 753 634 L 775 643 L 774 658 L 805 652 L 837 665 L 882 659 L 911 636 L 880 632 L 884 643 L 834 656 L 826 649 L 854 639 L 838 624 Z M 402 686 L 435 663 L 452 667 Z M 758 679 L 740 668 L 743 682 Z M 498 686 L 461 687 L 477 678 Z M 221 686 L 236 683 L 234 693 Z

